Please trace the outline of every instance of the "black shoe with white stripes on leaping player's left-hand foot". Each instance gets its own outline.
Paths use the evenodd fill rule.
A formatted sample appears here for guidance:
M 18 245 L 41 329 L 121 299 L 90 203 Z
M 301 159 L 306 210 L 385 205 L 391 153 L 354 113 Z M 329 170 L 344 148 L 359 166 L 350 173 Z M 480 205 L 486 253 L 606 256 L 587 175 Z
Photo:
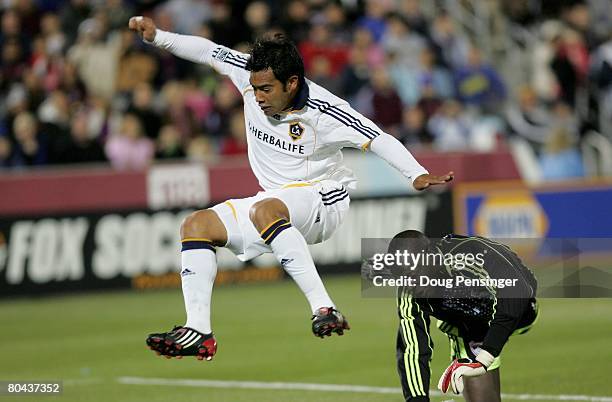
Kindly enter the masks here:
M 189 327 L 176 326 L 169 332 L 150 334 L 147 345 L 168 359 L 195 356 L 198 360 L 212 360 L 217 352 L 217 341 L 212 333 L 203 334 Z

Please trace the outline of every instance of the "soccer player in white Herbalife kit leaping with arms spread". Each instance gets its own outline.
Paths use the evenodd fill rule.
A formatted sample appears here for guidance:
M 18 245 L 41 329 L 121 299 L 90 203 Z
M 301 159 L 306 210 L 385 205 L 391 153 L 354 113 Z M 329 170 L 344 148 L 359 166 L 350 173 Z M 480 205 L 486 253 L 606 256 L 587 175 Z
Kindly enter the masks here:
M 244 54 L 202 37 L 161 31 L 150 18 L 133 17 L 129 27 L 146 42 L 211 65 L 232 80 L 244 98 L 249 162 L 264 190 L 185 219 L 181 277 L 187 320 L 149 335 L 149 347 L 166 357 L 214 356 L 210 303 L 216 246 L 243 261 L 274 253 L 310 304 L 313 333 L 342 335 L 348 323 L 327 294 L 307 246 L 329 239 L 348 211 L 347 188 L 355 186 L 355 178 L 342 163 L 341 149 L 373 151 L 417 190 L 446 183 L 453 173 L 430 175 L 399 141 L 305 79 L 302 58 L 283 37 L 262 39 Z

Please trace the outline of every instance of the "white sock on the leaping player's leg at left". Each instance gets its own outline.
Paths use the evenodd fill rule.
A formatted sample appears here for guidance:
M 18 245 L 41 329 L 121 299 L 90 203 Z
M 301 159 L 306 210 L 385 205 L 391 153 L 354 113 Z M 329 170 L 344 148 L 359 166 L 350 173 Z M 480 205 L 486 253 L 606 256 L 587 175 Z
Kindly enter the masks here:
M 185 249 L 185 242 L 183 242 L 181 252 L 181 282 L 187 312 L 185 326 L 204 334 L 212 332 L 210 302 L 217 276 L 217 256 L 213 250 L 209 248 Z

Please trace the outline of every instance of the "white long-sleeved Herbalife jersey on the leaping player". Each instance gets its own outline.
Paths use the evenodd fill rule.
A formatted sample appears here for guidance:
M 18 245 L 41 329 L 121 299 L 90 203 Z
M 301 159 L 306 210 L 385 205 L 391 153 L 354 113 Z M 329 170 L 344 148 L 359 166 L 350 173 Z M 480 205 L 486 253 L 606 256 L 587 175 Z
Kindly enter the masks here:
M 157 30 L 154 44 L 179 57 L 213 66 L 242 93 L 249 162 L 265 190 L 326 179 L 354 187 L 355 177 L 342 163 L 343 147 L 371 147 L 412 180 L 427 173 L 399 141 L 312 81 L 301 85 L 291 112 L 270 117 L 257 104 L 249 83 L 250 72 L 245 69 L 249 55 L 205 38 L 161 30 Z

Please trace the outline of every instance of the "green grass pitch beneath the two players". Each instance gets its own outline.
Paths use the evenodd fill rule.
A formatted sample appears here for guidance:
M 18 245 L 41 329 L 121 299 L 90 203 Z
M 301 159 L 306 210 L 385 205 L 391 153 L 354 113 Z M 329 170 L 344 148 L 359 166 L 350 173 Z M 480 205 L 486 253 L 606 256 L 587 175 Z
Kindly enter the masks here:
M 395 301 L 362 298 L 358 276 L 324 281 L 351 323 L 343 337 L 311 335 L 306 301 L 291 281 L 215 289 L 219 350 L 212 362 L 166 360 L 145 347 L 147 333 L 183 323 L 178 289 L 0 301 L 0 380 L 65 383 L 61 396 L 0 396 L 0 402 L 402 401 L 394 357 Z M 612 398 L 606 374 L 612 367 L 612 300 L 545 299 L 541 308 L 537 326 L 513 337 L 504 350 L 502 392 Z M 435 328 L 432 332 L 437 382 L 448 345 Z M 353 384 L 398 387 L 398 392 L 127 385 L 121 377 Z

